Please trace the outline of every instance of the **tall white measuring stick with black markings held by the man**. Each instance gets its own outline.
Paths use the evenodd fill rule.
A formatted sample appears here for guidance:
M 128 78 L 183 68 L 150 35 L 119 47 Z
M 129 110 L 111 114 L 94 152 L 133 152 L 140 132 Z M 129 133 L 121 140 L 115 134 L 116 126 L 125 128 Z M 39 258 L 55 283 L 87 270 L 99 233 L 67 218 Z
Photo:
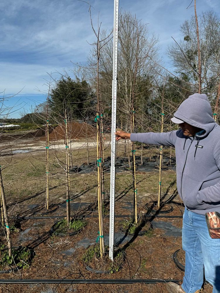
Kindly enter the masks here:
M 115 154 L 116 154 L 116 101 L 117 101 L 117 59 L 118 59 L 118 24 L 119 0 L 114 0 L 114 38 L 113 38 L 113 78 L 111 108 L 111 177 L 110 177 L 110 227 L 109 227 L 109 258 L 114 255 L 114 217 L 115 217 Z

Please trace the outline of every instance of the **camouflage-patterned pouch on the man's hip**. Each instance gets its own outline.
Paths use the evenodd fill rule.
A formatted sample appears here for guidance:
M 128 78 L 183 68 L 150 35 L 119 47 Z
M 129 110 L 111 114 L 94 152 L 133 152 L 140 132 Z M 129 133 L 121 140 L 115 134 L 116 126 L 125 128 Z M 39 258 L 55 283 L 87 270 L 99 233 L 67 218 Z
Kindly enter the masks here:
M 220 213 L 208 212 L 206 213 L 206 223 L 209 229 L 211 238 L 220 238 Z

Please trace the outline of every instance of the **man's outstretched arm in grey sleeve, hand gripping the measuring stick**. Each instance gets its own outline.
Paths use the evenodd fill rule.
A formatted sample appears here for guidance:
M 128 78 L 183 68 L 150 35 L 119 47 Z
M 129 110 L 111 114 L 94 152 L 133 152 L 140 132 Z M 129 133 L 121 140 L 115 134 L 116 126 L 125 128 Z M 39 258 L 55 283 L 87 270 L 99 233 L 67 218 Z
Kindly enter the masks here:
M 178 131 L 178 130 L 177 130 Z M 116 140 L 131 139 L 132 142 L 142 142 L 152 145 L 163 145 L 174 147 L 177 139 L 177 131 L 170 132 L 146 132 L 146 133 L 128 133 L 124 131 L 116 131 Z

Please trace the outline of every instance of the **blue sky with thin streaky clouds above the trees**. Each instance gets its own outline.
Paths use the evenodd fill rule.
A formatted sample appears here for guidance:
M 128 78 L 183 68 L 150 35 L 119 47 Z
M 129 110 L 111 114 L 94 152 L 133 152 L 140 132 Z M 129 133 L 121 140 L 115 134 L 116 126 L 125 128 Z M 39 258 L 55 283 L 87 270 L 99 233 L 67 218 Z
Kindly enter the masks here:
M 169 67 L 164 53 L 171 37 L 180 38 L 182 22 L 194 13 L 194 7 L 186 9 L 190 2 L 119 0 L 119 7 L 148 23 L 149 31 L 159 37 L 160 54 Z M 114 0 L 90 0 L 90 4 L 94 25 L 99 13 L 102 27 L 111 29 Z M 197 14 L 211 9 L 220 16 L 219 0 L 197 0 Z M 11 96 L 21 91 L 5 102 L 6 106 L 16 104 L 11 117 L 19 117 L 23 108 L 28 111 L 45 99 L 47 72 L 63 72 L 71 67 L 70 61 L 86 61 L 94 35 L 83 1 L 2 0 L 0 13 L 0 92 L 5 90 L 5 96 Z

